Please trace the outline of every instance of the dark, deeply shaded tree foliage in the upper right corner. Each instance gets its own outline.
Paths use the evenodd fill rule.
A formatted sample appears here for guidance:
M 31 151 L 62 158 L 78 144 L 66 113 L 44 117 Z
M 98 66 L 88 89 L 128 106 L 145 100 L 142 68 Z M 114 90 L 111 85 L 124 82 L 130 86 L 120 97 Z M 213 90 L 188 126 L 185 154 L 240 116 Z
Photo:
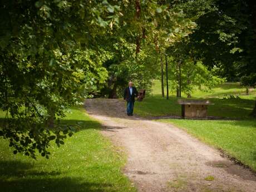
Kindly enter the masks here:
M 198 24 L 190 35 L 195 56 L 229 81 L 255 86 L 255 2 L 254 1 L 187 1 L 196 6 Z M 185 6 L 186 7 L 186 6 Z M 191 6 L 184 8 L 191 14 Z M 209 22 L 210 21 L 210 22 Z M 255 115 L 254 108 L 252 114 Z

